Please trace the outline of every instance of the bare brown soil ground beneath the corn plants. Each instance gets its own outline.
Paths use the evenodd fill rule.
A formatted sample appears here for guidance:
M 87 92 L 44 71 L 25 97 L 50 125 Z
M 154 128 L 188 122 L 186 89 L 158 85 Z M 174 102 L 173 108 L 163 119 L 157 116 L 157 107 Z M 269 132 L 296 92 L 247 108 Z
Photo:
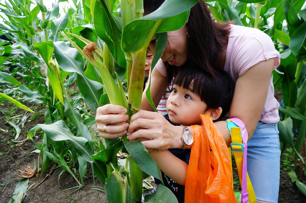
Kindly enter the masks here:
M 27 106 L 31 107 L 31 105 L 28 104 Z M 4 101 L 2 104 L 0 104 L 0 111 L 4 111 L 10 108 L 13 108 L 13 104 L 9 103 L 8 101 Z M 39 107 L 39 105 L 37 108 L 44 109 L 44 107 Z M 19 110 L 18 112 L 18 114 L 24 113 L 24 110 Z M 31 116 L 29 116 L 29 118 L 31 118 Z M 28 130 L 39 123 L 44 123 L 43 113 L 32 122 L 24 123 L 24 131 L 22 131 L 20 137 L 17 140 L 25 140 Z M 19 146 L 16 146 L 17 143 L 12 142 L 15 136 L 15 132 L 13 127 L 6 125 L 5 117 L 2 112 L 0 112 L 0 128 L 5 131 L 0 131 L 0 153 L 8 152 L 6 154 L 0 155 L 0 202 L 5 203 L 8 202 L 13 196 L 15 186 L 21 179 L 21 177 L 18 177 L 18 175 L 20 175 L 18 170 L 24 170 L 26 166 L 34 167 L 34 164 L 38 158 L 38 154 L 29 154 L 36 149 L 32 141 L 25 141 Z M 48 170 L 41 177 L 39 174 L 35 178 L 29 179 L 29 186 L 33 183 L 35 183 L 35 185 L 28 191 L 23 201 L 24 203 L 107 202 L 104 192 L 91 189 L 92 186 L 97 186 L 104 190 L 104 186 L 99 182 L 98 179 L 95 179 L 95 184 L 93 183 L 91 168 L 89 165 L 87 174 L 88 179 L 85 179 L 85 189 L 77 191 L 75 191 L 75 189 L 66 190 L 78 186 L 78 184 L 67 172 L 64 172 L 58 180 L 58 176 L 62 169 L 56 168 L 51 170 L 54 165 L 57 166 L 56 164 L 51 163 Z M 305 175 L 300 176 L 298 169 L 296 172 L 300 181 L 306 184 Z M 44 179 L 45 176 L 49 173 L 50 175 Z M 4 184 L 7 181 L 10 183 L 7 185 Z M 281 172 L 279 202 L 306 202 L 306 197 L 297 189 L 297 186 L 292 184 L 291 179 L 285 172 Z

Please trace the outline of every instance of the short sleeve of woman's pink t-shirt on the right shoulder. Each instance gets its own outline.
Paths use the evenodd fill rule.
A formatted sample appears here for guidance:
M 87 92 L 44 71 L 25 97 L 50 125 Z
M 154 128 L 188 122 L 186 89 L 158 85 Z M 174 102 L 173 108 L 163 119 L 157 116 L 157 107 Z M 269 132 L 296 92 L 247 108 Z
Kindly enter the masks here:
M 264 32 L 239 25 L 231 25 L 224 70 L 236 81 L 239 76 L 259 62 L 274 59 L 274 69 L 280 55 L 271 38 Z

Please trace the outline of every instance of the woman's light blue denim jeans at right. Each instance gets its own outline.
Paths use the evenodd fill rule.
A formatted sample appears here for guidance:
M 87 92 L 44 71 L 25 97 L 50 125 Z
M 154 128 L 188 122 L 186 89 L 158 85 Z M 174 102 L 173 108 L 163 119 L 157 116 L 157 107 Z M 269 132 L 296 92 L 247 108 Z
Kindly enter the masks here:
M 277 123 L 258 122 L 248 141 L 248 174 L 256 199 L 278 202 L 280 143 Z

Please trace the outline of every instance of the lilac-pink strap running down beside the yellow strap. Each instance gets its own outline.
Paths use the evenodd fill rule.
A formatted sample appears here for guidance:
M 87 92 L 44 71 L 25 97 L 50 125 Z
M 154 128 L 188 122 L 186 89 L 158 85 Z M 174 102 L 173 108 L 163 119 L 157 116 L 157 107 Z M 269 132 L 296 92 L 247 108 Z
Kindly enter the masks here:
M 243 164 L 242 164 L 242 186 L 241 186 L 241 203 L 248 202 L 247 192 L 247 153 L 248 153 L 248 132 L 245 130 L 244 123 L 237 117 L 230 118 L 237 126 L 241 128 L 241 139 L 243 143 Z

